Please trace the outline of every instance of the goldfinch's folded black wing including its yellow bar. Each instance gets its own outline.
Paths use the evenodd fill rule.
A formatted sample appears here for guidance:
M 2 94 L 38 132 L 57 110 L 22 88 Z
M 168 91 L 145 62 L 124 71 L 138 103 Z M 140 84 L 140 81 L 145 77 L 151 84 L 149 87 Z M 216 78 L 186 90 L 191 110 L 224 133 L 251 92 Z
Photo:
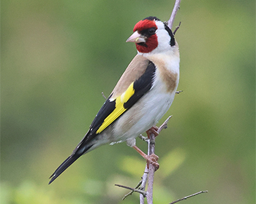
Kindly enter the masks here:
M 91 141 L 92 138 L 97 136 L 97 134 L 102 133 L 103 130 L 105 130 L 109 125 L 113 124 L 113 122 L 115 122 L 115 120 L 118 119 L 121 114 L 124 114 L 125 111 L 131 108 L 141 97 L 143 97 L 143 95 L 148 92 L 148 90 L 151 89 L 156 67 L 154 66 L 154 63 L 148 60 L 146 68 L 144 69 L 145 71 L 141 73 L 140 76 L 136 76 L 137 79 L 133 80 L 133 82 L 129 84 L 123 93 L 120 93 L 119 95 L 116 95 L 114 91 L 111 93 L 103 104 L 102 108 L 99 110 L 94 121 L 91 123 L 89 133 L 86 134 L 83 142 L 86 141 L 87 143 Z M 125 79 L 124 74 L 121 76 L 121 79 Z M 124 82 L 118 83 L 124 85 Z M 118 87 L 115 87 L 115 89 L 120 90 Z M 113 97 L 113 95 L 116 95 L 116 97 Z

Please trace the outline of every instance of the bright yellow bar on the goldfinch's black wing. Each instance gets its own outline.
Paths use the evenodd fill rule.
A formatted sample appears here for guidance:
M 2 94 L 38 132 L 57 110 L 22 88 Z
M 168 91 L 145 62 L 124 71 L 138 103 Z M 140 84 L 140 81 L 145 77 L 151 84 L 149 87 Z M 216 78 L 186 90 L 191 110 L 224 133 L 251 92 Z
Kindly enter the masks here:
M 122 93 L 120 96 L 116 98 L 116 108 L 104 119 L 104 122 L 97 130 L 97 134 L 101 133 L 103 130 L 105 130 L 108 125 L 110 125 L 112 122 L 114 122 L 121 114 L 124 113 L 127 109 L 124 109 L 124 103 L 126 103 L 129 98 L 132 97 L 132 95 L 135 93 L 134 90 L 134 82 L 132 82 L 131 85 L 127 88 L 127 90 Z

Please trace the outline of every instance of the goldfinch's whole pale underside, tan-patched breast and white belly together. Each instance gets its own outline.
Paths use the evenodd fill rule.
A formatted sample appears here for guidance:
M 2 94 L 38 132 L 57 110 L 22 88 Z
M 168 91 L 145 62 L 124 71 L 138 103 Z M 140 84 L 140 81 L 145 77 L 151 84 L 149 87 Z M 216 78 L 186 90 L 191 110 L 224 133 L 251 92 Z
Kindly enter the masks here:
M 116 120 L 110 141 L 133 141 L 138 135 L 156 125 L 170 108 L 179 79 L 178 44 L 172 49 L 154 55 L 143 54 L 157 68 L 153 86 L 132 108 Z M 170 83 L 173 85 L 170 86 Z M 129 146 L 133 145 L 135 143 L 129 143 Z

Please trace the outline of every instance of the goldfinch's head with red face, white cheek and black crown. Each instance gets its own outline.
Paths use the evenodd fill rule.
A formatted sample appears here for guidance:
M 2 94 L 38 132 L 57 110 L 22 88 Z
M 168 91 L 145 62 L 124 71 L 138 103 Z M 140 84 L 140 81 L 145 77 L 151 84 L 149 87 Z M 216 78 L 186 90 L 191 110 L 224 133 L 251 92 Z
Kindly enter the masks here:
M 157 17 L 150 16 L 140 20 L 133 31 L 127 42 L 135 42 L 140 53 L 165 52 L 176 44 L 173 32 Z

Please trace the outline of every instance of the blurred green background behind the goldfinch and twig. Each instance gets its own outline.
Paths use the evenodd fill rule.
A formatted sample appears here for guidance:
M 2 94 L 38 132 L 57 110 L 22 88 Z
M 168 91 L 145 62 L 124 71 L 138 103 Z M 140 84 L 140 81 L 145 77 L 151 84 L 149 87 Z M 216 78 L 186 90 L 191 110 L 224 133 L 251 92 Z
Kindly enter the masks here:
M 1 204 L 139 203 L 121 198 L 145 161 L 125 143 L 81 157 L 53 184 L 136 54 L 138 20 L 174 1 L 1 1 Z M 255 1 L 182 1 L 176 98 L 159 125 L 154 203 L 255 203 Z M 146 144 L 138 140 L 146 152 Z

